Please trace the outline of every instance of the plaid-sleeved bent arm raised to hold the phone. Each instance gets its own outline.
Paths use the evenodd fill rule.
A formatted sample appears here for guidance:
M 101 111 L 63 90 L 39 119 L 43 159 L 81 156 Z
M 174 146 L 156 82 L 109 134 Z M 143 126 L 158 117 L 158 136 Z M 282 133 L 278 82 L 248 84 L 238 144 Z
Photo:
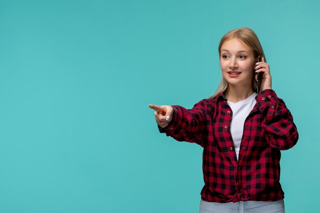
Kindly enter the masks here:
M 292 148 L 298 141 L 299 134 L 283 100 L 272 89 L 260 92 L 256 100 L 259 110 L 265 115 L 262 129 L 266 132 L 267 143 L 280 150 Z

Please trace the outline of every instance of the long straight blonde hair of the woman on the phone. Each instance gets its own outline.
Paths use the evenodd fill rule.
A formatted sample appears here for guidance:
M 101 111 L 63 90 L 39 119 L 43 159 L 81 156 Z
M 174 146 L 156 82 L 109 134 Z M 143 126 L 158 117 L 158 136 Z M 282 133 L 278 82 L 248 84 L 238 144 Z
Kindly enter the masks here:
M 232 38 L 239 38 L 241 41 L 243 41 L 246 45 L 249 46 L 249 48 L 254 52 L 254 57 L 258 58 L 259 55 L 261 57 L 264 58 L 264 61 L 266 61 L 261 43 L 257 37 L 257 35 L 255 34 L 255 32 L 249 28 L 240 28 L 240 29 L 235 29 L 232 30 L 230 32 L 228 32 L 227 34 L 225 34 L 221 40 L 220 40 L 220 44 L 218 47 L 218 51 L 219 51 L 219 56 L 221 57 L 221 46 L 222 44 Z M 213 96 L 210 97 L 210 99 L 213 99 L 214 97 L 216 97 L 218 94 L 220 94 L 221 92 L 224 92 L 227 89 L 228 86 L 228 82 L 223 78 L 221 78 L 221 82 L 216 90 L 216 92 L 213 94 Z M 252 88 L 254 89 L 254 91 L 257 89 L 257 85 L 256 85 L 256 80 L 255 80 L 255 75 L 253 75 L 253 80 L 252 80 Z

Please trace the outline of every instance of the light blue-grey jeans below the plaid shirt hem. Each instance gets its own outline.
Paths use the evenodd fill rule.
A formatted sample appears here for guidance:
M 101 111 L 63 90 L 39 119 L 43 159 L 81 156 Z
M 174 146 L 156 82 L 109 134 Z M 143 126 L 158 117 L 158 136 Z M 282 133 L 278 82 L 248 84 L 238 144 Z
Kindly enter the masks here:
M 214 203 L 201 200 L 199 213 L 284 213 L 283 200 Z

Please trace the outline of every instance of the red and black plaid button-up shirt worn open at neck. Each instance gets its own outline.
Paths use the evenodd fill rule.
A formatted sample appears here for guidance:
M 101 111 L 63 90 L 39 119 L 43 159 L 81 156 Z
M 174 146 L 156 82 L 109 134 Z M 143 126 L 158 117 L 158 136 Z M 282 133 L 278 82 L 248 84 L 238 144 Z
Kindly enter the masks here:
M 159 127 L 178 141 L 203 147 L 202 200 L 225 203 L 284 198 L 279 182 L 280 150 L 296 144 L 298 131 L 275 91 L 260 92 L 256 101 L 244 122 L 239 160 L 230 132 L 232 110 L 223 93 L 198 102 L 190 110 L 173 106 L 172 121 Z

